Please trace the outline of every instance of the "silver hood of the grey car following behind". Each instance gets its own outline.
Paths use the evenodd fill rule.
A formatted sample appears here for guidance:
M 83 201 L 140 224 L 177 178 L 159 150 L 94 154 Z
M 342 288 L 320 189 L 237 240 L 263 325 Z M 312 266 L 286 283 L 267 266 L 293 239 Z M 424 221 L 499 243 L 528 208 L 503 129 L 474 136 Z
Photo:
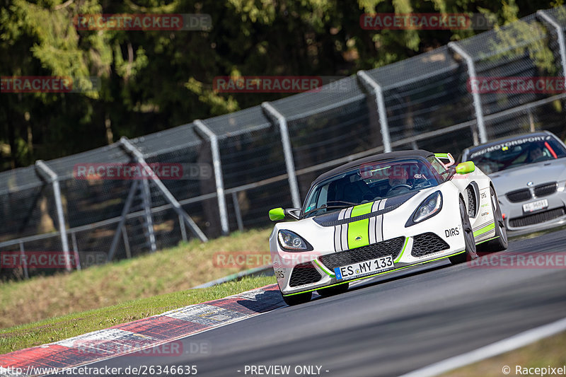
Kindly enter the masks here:
M 566 158 L 531 163 L 498 171 L 489 176 L 495 185 L 497 194 L 504 195 L 509 191 L 526 188 L 527 182 L 533 182 L 533 186 L 536 186 L 541 183 L 566 180 Z

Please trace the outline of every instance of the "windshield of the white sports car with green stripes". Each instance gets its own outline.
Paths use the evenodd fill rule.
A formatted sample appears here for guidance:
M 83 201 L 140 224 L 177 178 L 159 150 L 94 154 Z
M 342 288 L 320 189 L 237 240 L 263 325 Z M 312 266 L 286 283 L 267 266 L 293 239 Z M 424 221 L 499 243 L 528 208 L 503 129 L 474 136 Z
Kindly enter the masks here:
M 377 161 L 319 182 L 308 194 L 303 217 L 395 197 L 439 185 L 441 178 L 424 158 Z

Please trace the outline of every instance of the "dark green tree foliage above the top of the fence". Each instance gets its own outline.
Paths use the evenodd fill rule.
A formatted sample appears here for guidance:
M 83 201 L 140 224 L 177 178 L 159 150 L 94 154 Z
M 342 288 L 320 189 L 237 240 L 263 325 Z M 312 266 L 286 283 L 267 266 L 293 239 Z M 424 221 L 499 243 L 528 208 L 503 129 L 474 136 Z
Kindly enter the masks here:
M 478 30 L 363 30 L 362 13 L 484 13 L 498 25 L 556 1 L 0 0 L 0 75 L 96 77 L 83 93 L 0 93 L 0 170 L 274 100 L 216 93 L 215 76 L 345 76 Z M 212 29 L 77 30 L 93 13 L 206 13 Z M 497 42 L 519 43 L 529 30 Z M 549 52 L 533 59 L 545 66 Z M 88 83 L 86 83 L 88 85 Z

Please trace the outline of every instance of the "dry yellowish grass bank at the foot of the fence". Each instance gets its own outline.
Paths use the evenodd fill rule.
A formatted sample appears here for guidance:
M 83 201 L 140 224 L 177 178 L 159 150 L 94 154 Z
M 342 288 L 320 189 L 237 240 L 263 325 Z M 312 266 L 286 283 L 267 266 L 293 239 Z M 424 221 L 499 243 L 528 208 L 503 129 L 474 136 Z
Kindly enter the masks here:
M 183 291 L 252 267 L 255 260 L 218 263 L 217 253 L 269 255 L 269 229 L 234 232 L 207 243 L 193 240 L 130 260 L 69 274 L 0 283 L 0 328 Z M 261 263 L 262 264 L 262 263 Z M 151 315 L 151 314 L 150 314 Z

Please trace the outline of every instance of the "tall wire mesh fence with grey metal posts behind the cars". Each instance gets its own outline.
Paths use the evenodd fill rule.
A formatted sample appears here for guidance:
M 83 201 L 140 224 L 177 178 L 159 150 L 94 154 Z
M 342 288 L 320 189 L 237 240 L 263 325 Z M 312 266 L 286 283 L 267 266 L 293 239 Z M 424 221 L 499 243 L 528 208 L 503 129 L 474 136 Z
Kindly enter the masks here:
M 373 153 L 458 156 L 540 129 L 565 139 L 565 30 L 566 7 L 538 11 L 316 91 L 0 173 L 0 250 L 20 257 L 0 276 L 61 268 L 30 263 L 33 252 L 62 253 L 73 258 L 64 268 L 80 269 L 268 226 L 267 211 L 296 205 L 317 175 Z M 478 93 L 473 86 L 538 77 L 561 79 L 562 89 Z M 109 164 L 183 172 L 171 179 L 77 174 L 77 166 Z

